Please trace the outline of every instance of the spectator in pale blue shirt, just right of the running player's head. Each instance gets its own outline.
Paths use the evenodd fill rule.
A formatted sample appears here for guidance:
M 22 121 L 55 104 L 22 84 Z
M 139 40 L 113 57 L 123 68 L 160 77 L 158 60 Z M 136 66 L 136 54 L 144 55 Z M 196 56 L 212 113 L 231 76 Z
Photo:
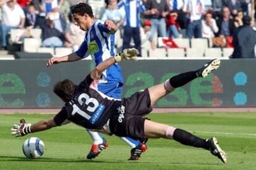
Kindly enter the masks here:
M 120 9 L 117 7 L 117 0 L 109 0 L 108 8 L 105 10 L 101 17 L 101 20 L 113 20 L 116 26 L 122 26 L 124 23 L 124 15 L 121 13 Z

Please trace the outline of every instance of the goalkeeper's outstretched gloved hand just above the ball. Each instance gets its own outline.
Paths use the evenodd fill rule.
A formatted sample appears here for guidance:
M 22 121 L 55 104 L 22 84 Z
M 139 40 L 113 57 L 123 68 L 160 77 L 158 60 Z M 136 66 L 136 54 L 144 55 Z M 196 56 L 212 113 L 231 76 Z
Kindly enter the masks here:
M 15 137 L 25 136 L 31 132 L 31 124 L 27 124 L 24 119 L 20 119 L 20 125 L 14 124 L 11 129 L 11 134 Z

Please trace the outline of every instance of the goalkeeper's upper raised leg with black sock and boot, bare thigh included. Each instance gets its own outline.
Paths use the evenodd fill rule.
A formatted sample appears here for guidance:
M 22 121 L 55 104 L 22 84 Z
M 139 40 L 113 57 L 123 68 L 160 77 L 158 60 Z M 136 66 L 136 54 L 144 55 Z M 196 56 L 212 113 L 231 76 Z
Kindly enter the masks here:
M 165 83 L 158 84 L 148 89 L 150 93 L 151 106 L 165 95 L 174 91 L 177 87 L 184 86 L 195 78 L 205 78 L 211 71 L 216 70 L 220 67 L 220 60 L 214 59 L 208 63 L 205 63 L 202 68 L 196 71 L 189 71 L 187 73 L 181 73 L 173 76 L 172 78 L 165 81 Z

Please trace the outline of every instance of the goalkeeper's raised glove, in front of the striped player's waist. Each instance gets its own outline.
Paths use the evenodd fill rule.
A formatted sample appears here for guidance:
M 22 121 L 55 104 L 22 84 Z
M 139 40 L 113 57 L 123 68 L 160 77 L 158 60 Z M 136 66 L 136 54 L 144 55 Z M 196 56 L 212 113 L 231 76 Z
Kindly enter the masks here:
M 136 57 L 136 55 L 138 54 L 139 51 L 137 49 L 124 49 L 122 52 L 114 56 L 114 60 L 116 60 L 117 63 L 121 62 L 122 60 L 137 61 L 138 57 Z

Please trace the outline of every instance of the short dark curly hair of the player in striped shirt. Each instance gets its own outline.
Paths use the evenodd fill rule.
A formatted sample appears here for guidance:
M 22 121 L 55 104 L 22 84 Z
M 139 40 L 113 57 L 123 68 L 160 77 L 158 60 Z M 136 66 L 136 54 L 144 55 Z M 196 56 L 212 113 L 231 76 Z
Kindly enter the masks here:
M 79 3 L 79 4 L 76 4 L 75 6 L 72 6 L 71 13 L 72 14 L 76 13 L 81 16 L 83 16 L 84 14 L 88 14 L 91 18 L 94 18 L 92 7 L 85 3 Z

